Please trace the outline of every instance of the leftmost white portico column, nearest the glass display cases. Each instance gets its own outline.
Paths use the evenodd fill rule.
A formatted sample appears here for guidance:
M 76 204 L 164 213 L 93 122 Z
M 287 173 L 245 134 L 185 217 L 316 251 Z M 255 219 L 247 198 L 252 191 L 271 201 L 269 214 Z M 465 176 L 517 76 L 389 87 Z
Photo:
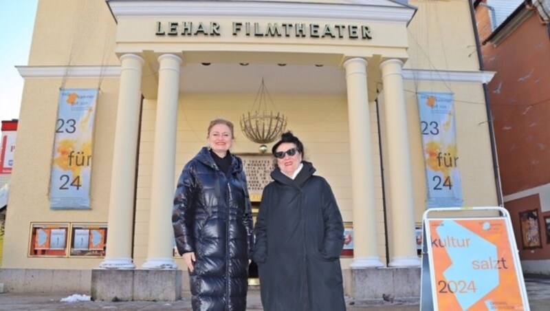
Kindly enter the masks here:
M 143 58 L 120 57 L 120 89 L 116 115 L 107 254 L 100 268 L 133 269 L 132 235 L 137 131 L 140 125 Z

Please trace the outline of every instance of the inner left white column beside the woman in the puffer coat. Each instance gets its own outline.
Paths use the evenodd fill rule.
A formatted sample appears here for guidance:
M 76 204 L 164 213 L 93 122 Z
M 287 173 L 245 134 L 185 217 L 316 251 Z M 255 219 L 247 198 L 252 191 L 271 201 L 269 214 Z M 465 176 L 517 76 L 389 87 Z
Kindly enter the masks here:
M 159 56 L 159 89 L 153 153 L 151 216 L 147 260 L 142 268 L 177 269 L 172 256 L 174 233 L 172 206 L 181 58 L 173 54 Z

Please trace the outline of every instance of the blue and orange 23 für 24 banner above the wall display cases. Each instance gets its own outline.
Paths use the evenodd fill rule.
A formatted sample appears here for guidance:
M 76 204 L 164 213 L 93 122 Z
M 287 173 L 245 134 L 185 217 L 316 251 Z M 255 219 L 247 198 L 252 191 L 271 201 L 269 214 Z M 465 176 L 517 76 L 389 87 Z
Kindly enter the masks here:
M 56 121 L 50 208 L 89 209 L 91 151 L 98 89 L 61 89 Z

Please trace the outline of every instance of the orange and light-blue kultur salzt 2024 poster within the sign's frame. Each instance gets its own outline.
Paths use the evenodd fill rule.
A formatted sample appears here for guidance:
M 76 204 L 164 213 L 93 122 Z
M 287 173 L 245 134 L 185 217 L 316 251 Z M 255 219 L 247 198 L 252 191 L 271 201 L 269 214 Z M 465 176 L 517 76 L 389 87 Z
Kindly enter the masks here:
M 428 224 L 439 310 L 524 310 L 505 219 L 430 219 Z M 491 252 L 482 245 L 496 246 L 494 256 L 486 257 Z

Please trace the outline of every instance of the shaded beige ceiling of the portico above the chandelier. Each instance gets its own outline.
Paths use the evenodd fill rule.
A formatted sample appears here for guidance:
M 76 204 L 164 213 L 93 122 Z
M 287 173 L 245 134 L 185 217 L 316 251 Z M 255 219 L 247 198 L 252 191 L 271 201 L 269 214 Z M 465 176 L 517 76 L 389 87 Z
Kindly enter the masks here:
M 149 58 L 151 59 L 151 58 Z M 367 66 L 369 98 L 381 83 L 380 58 Z M 158 65 L 146 61 L 142 92 L 157 97 Z M 346 94 L 345 69 L 338 65 L 296 63 L 185 63 L 180 67 L 181 93 L 255 93 L 262 78 L 271 94 Z

